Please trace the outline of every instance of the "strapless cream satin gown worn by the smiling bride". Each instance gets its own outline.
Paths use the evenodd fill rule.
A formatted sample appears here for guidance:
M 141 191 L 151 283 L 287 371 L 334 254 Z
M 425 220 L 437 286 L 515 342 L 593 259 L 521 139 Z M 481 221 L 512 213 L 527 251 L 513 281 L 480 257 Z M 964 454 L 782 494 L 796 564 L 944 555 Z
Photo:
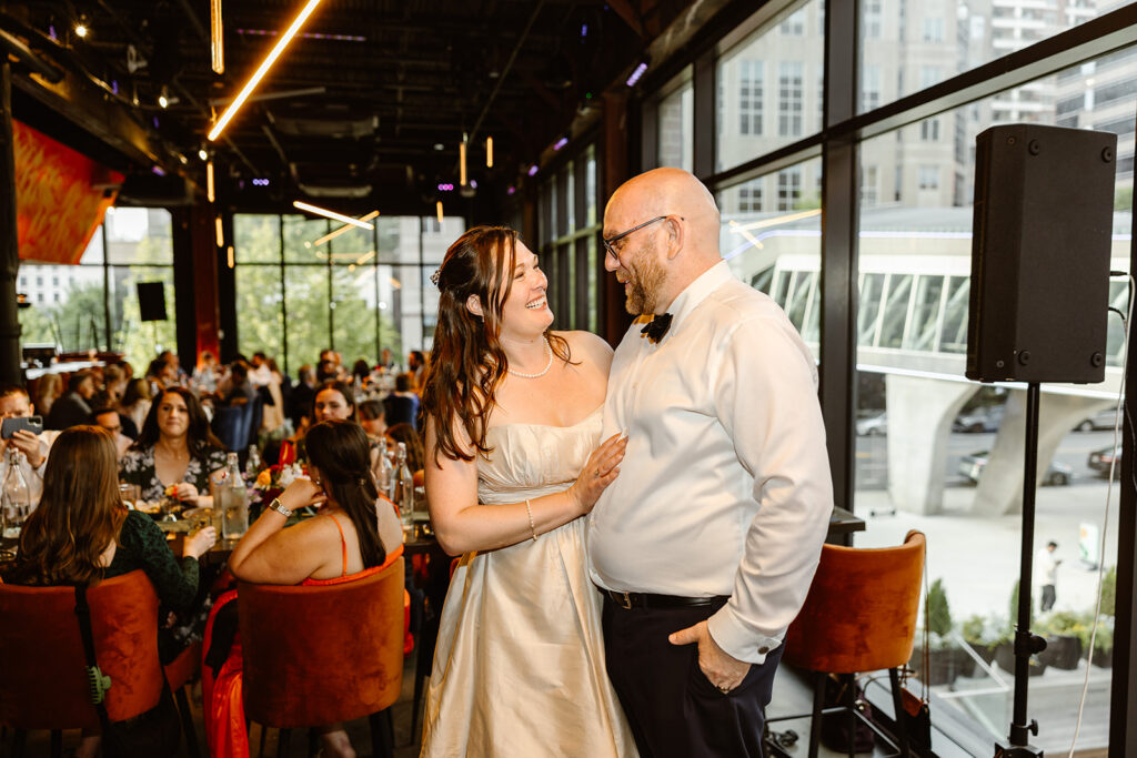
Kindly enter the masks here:
M 479 502 L 568 489 L 599 435 L 599 409 L 575 426 L 491 428 Z M 422 756 L 637 755 L 604 668 L 586 520 L 462 557 L 442 608 Z

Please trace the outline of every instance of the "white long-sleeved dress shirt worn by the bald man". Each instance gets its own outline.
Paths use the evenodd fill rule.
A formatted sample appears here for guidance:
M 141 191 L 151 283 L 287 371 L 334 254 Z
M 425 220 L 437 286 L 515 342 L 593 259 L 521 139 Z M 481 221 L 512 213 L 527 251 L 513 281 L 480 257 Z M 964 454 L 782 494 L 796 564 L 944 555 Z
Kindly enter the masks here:
M 629 441 L 589 517 L 592 580 L 729 595 L 711 635 L 762 663 L 805 601 L 833 507 L 818 372 L 781 308 L 725 261 L 670 311 L 658 344 L 633 324 L 613 357 L 600 439 Z

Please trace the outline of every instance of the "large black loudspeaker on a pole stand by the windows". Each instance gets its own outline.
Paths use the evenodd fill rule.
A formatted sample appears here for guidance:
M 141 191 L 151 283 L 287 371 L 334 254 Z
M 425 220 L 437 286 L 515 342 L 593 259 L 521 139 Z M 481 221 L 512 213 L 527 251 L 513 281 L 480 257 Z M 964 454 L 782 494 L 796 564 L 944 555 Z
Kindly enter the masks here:
M 1105 378 L 1117 145 L 1034 124 L 976 138 L 968 378 Z

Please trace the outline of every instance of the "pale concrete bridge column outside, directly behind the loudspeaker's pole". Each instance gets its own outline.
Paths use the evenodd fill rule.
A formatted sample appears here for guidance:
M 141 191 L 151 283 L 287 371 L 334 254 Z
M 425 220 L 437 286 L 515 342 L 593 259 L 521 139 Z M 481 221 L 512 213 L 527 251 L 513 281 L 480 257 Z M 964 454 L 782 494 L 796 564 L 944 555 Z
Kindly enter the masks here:
M 1062 438 L 1079 422 L 1110 407 L 1110 401 L 1043 392 L 1038 408 L 1038 481 L 1059 449 Z M 891 426 L 891 425 L 889 425 Z M 889 431 L 891 431 L 889 428 Z M 1027 438 L 1027 391 L 1012 390 L 1006 411 L 976 490 L 971 513 L 1003 516 L 1022 513 L 1022 466 Z

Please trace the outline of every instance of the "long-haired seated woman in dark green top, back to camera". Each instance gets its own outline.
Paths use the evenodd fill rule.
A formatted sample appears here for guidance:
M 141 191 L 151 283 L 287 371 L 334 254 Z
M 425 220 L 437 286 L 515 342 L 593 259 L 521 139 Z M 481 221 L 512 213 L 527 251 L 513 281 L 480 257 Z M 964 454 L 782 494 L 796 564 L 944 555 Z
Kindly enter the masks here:
M 127 510 L 118 494 L 115 447 L 96 426 L 75 426 L 59 435 L 43 476 L 43 499 L 20 532 L 8 582 L 35 586 L 91 586 L 141 568 L 161 601 L 158 651 L 163 663 L 184 642 L 174 638 L 169 613 L 186 613 L 198 593 L 198 558 L 217 540 L 210 526 L 185 539 L 174 557 L 153 520 Z M 99 750 L 98 734 L 84 734 L 80 758 Z

